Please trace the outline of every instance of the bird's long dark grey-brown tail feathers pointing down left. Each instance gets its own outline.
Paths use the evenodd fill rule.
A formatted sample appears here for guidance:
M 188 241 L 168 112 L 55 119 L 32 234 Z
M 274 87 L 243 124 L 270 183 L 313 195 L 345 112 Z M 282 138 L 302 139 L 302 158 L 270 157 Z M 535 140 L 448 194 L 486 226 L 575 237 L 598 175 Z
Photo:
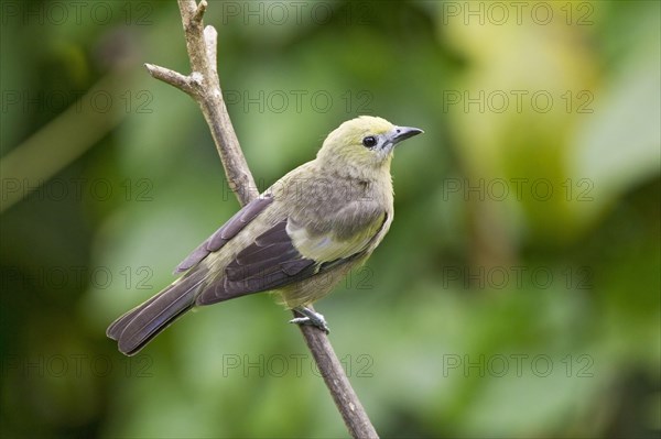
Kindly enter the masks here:
M 115 320 L 108 327 L 106 334 L 118 341 L 117 344 L 122 353 L 133 355 L 177 317 L 193 308 L 204 274 L 192 273 L 170 285 L 144 304 Z

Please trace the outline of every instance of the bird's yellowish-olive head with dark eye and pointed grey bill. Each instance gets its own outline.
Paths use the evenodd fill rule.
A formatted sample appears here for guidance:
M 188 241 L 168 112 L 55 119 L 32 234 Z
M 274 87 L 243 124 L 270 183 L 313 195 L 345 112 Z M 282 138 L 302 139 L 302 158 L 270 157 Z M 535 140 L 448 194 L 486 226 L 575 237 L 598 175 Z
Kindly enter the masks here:
M 388 171 L 394 145 L 422 132 L 418 128 L 395 127 L 386 119 L 360 116 L 328 134 L 317 160 L 323 166 L 353 174 Z

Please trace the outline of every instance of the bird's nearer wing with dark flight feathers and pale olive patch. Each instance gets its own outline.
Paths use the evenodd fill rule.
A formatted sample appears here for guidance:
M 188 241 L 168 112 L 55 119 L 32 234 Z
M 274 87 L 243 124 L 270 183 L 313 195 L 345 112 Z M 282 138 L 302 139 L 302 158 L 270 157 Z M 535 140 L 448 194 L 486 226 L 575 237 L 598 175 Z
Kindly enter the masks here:
M 365 253 L 387 219 L 381 213 L 376 227 L 353 240 L 311 233 L 291 218 L 280 221 L 237 253 L 225 275 L 204 287 L 196 303 L 210 305 L 280 288 L 353 261 Z

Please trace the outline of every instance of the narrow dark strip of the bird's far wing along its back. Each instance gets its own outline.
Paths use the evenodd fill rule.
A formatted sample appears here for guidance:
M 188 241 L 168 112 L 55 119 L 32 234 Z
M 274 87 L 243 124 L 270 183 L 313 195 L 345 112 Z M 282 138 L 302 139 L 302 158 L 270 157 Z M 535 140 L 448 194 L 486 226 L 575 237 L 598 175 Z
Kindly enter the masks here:
M 210 253 L 223 248 L 229 240 L 236 237 L 250 221 L 261 213 L 271 202 L 273 197 L 270 195 L 261 196 L 235 213 L 220 229 L 195 249 L 185 260 L 183 260 L 174 270 L 175 274 L 183 273 L 201 263 Z

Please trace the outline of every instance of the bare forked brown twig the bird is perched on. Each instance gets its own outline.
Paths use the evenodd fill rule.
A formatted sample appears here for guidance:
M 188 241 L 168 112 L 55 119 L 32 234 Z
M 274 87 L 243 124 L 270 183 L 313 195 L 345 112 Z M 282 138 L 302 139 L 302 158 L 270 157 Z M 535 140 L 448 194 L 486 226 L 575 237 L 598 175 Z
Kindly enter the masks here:
M 205 29 L 203 25 L 206 0 L 199 3 L 178 0 L 178 7 L 191 59 L 191 75 L 184 76 L 151 64 L 145 64 L 145 67 L 154 78 L 181 89 L 197 101 L 212 130 L 230 188 L 241 205 L 246 205 L 257 198 L 259 191 L 223 99 L 216 68 L 218 34 L 213 26 Z M 314 327 L 300 328 L 351 437 L 378 438 L 326 334 Z

